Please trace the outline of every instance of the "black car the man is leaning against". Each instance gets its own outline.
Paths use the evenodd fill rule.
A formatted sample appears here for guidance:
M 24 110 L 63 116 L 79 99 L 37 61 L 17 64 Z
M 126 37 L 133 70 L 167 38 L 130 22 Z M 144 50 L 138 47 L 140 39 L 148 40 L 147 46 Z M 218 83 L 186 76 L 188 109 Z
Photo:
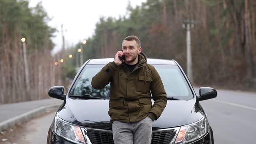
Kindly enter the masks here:
M 62 99 L 48 131 L 47 144 L 114 144 L 108 116 L 110 84 L 92 88 L 92 77 L 114 59 L 89 59 L 79 70 L 66 95 L 63 86 L 49 89 Z M 148 59 L 161 76 L 167 106 L 153 122 L 151 144 L 213 144 L 213 131 L 199 101 L 217 97 L 217 91 L 201 87 L 194 92 L 181 66 L 174 60 Z M 153 99 L 152 99 L 152 102 Z

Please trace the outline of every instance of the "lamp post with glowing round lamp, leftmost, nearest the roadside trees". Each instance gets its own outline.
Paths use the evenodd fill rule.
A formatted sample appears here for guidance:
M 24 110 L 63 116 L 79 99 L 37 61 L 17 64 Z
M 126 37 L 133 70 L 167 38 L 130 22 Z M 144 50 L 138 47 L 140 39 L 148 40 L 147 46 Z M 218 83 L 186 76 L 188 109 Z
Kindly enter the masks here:
M 26 58 L 26 39 L 23 37 L 20 39 L 23 46 L 23 58 L 24 58 L 24 67 L 25 67 L 25 82 L 26 82 L 26 90 L 30 91 L 30 78 L 29 78 L 29 68 Z

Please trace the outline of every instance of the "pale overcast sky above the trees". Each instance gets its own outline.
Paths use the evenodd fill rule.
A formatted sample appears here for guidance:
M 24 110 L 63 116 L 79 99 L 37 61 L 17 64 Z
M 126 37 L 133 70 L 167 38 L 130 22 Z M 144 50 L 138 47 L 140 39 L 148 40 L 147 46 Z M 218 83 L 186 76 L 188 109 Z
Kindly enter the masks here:
M 48 22 L 58 30 L 54 33 L 53 43 L 56 46 L 53 53 L 62 48 L 61 25 L 65 37 L 65 47 L 72 46 L 91 37 L 95 25 L 101 16 L 115 17 L 126 16 L 129 0 L 29 0 L 30 7 L 35 7 L 42 2 L 48 16 L 52 18 Z M 131 6 L 141 6 L 146 0 L 130 0 Z

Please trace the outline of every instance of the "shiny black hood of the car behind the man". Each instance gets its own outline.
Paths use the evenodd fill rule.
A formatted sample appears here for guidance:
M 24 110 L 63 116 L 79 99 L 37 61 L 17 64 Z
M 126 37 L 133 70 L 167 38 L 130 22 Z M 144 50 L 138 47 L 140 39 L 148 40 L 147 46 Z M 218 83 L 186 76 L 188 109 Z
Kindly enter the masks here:
M 111 130 L 108 105 L 108 99 L 82 100 L 67 98 L 58 115 L 64 121 L 72 124 Z M 168 100 L 160 118 L 153 122 L 153 130 L 191 124 L 201 118 L 203 118 L 203 112 L 195 98 L 188 101 Z

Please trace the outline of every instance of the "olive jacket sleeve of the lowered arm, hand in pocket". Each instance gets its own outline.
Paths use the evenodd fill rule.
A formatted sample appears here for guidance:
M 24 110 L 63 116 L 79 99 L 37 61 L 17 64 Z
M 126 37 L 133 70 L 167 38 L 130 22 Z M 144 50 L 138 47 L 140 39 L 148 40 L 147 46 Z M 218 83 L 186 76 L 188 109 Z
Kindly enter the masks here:
M 167 96 L 161 77 L 159 76 L 154 66 L 151 67 L 153 81 L 151 82 L 150 90 L 154 99 L 154 105 L 149 112 L 154 113 L 157 120 L 164 111 L 164 108 L 166 107 Z

